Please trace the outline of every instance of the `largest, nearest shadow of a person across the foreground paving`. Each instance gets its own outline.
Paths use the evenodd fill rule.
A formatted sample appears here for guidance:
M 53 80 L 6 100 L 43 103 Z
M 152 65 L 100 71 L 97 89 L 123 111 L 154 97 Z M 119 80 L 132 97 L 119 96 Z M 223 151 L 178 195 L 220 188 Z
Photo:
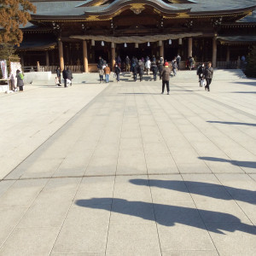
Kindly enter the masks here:
M 183 224 L 198 229 L 212 231 L 218 234 L 224 234 L 223 231 L 242 232 L 256 235 L 256 229 L 253 225 L 241 223 L 239 218 L 224 212 L 212 212 L 189 207 L 167 206 L 162 204 L 153 204 L 143 201 L 127 201 L 119 198 L 91 198 L 89 200 L 75 201 L 79 207 L 101 209 L 111 212 L 135 216 L 137 218 L 156 221 L 160 225 L 174 226 Z M 212 225 L 212 223 L 214 223 Z

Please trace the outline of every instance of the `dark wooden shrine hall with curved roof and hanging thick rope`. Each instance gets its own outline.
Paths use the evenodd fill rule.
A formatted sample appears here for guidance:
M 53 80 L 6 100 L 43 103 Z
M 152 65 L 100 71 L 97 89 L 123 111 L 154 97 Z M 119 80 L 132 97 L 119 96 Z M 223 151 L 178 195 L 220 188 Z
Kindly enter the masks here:
M 31 0 L 37 7 L 17 49 L 23 67 L 94 72 L 119 55 L 236 66 L 256 44 L 256 0 Z M 236 2 L 236 3 L 234 3 Z M 232 64 L 235 63 L 235 64 Z

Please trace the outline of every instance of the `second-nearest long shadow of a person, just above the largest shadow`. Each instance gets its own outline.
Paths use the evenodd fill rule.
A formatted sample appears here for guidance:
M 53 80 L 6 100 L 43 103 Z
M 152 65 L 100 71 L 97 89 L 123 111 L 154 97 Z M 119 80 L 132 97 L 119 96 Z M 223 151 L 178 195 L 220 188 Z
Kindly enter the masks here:
M 130 182 L 135 185 L 148 186 L 148 180 L 145 179 L 131 179 Z M 244 201 L 250 204 L 256 204 L 256 191 L 247 189 L 236 189 L 228 186 L 213 184 L 213 183 L 201 183 L 193 181 L 178 181 L 178 180 L 158 180 L 150 179 L 149 184 L 151 187 L 157 187 L 162 189 L 171 189 L 184 193 L 190 193 L 195 195 L 204 195 L 216 199 L 225 201 L 236 200 Z M 227 193 L 226 190 L 229 192 Z

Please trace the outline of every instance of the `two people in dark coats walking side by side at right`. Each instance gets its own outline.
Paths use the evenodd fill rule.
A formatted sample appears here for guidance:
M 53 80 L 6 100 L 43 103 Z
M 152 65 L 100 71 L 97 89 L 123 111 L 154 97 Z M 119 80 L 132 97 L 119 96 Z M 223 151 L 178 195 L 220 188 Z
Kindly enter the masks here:
M 212 62 L 207 63 L 205 67 L 204 63 L 201 63 L 197 68 L 197 75 L 200 83 L 200 87 L 205 86 L 205 90 L 210 91 L 210 84 L 212 83 L 213 68 Z M 206 84 L 207 83 L 207 84 Z

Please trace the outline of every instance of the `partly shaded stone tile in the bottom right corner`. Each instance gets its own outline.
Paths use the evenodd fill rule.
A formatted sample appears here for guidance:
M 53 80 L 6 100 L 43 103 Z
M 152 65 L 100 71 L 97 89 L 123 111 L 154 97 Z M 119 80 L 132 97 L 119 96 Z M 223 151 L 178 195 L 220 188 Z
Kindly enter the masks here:
M 255 226 L 239 223 L 207 223 L 207 230 L 220 255 L 255 254 Z

